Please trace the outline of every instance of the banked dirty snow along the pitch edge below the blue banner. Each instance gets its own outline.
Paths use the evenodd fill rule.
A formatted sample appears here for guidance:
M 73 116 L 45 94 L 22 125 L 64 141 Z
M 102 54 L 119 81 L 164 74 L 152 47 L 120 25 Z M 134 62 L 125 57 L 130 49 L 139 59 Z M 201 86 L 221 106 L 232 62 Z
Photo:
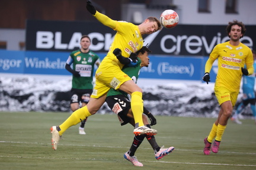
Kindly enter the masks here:
M 138 85 L 153 115 L 216 117 L 219 112 L 214 83 L 139 79 Z M 69 90 L 71 76 L 1 74 L 0 111 L 70 112 Z M 98 113 L 112 112 L 105 103 Z

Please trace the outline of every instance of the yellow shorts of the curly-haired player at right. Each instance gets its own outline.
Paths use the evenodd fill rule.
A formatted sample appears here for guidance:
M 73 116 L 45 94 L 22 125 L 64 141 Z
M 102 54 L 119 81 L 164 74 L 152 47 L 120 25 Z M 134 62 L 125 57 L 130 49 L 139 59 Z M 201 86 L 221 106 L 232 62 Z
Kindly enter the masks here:
M 226 87 L 215 87 L 215 96 L 217 97 L 219 105 L 230 100 L 234 107 L 238 94 L 239 91 L 230 91 L 229 89 L 226 89 Z

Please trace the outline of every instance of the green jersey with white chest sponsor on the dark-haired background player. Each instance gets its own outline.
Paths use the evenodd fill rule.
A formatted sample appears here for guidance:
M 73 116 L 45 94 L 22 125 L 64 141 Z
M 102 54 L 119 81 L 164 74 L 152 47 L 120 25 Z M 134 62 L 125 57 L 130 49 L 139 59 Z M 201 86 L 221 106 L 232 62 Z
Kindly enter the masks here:
M 82 53 L 80 50 L 73 51 L 67 64 L 73 64 L 73 70 L 79 71 L 80 77 L 73 76 L 73 89 L 93 89 L 92 77 L 94 73 L 94 64 L 100 65 L 100 57 L 89 50 L 88 53 Z

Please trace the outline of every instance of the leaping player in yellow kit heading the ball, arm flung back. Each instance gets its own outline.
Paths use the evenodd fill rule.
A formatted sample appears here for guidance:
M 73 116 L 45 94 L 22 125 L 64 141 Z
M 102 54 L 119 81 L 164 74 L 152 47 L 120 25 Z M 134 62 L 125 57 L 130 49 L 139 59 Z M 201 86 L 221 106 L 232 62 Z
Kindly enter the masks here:
M 107 27 L 113 28 L 117 31 L 114 41 L 104 57 L 100 66 L 95 73 L 95 87 L 92 90 L 91 98 L 87 104 L 72 113 L 68 119 L 59 126 L 52 126 L 52 145 L 53 149 L 57 149 L 60 136 L 71 126 L 78 124 L 81 120 L 88 116 L 94 115 L 105 102 L 108 90 L 111 88 L 123 90 L 131 94 L 131 108 L 135 118 L 135 135 L 157 133 L 157 130 L 144 126 L 142 120 L 143 100 L 142 89 L 130 79 L 127 74 L 121 71 L 124 64 L 121 64 L 117 57 L 113 54 L 114 49 L 119 48 L 124 51 L 124 57 L 133 56 L 136 51 L 143 46 L 144 34 L 152 34 L 161 29 L 161 23 L 155 17 L 145 19 L 140 25 L 134 25 L 130 22 L 119 22 L 108 18 L 106 15 L 96 11 L 90 1 L 87 1 L 87 10 Z M 123 61 L 121 61 L 123 62 Z M 130 60 L 130 64 L 134 64 Z M 136 63 L 135 63 L 136 64 Z

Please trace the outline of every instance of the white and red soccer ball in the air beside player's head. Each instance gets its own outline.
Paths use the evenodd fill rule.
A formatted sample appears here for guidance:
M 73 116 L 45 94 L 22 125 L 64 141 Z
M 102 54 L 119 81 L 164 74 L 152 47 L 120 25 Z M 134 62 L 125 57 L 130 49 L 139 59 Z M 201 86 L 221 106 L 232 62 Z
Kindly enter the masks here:
M 167 9 L 162 12 L 160 22 L 165 28 L 174 28 L 178 24 L 179 18 L 177 12 Z

